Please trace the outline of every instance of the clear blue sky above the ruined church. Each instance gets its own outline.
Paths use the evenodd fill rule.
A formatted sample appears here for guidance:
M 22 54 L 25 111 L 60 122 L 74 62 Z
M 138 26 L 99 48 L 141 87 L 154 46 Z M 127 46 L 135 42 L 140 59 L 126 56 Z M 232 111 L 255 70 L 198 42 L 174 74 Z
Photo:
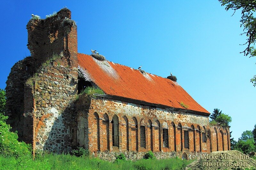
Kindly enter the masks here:
M 14 63 L 29 56 L 26 25 L 67 6 L 77 22 L 78 52 L 97 49 L 107 60 L 162 77 L 170 72 L 205 109 L 232 117 L 237 140 L 255 121 L 256 58 L 239 54 L 240 12 L 217 0 L 197 1 L 4 1 L 1 3 L 0 88 Z

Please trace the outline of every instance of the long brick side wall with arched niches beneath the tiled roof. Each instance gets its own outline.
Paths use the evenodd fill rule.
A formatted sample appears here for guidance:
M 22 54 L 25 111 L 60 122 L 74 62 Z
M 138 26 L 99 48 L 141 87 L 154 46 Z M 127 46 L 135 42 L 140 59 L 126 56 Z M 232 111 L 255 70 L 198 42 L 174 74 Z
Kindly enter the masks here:
M 80 97 L 79 100 L 83 98 Z M 90 107 L 87 107 L 89 108 L 87 110 L 88 148 L 95 153 L 104 151 L 147 152 L 149 150 L 154 152 L 211 152 L 211 150 L 216 150 L 214 148 L 217 144 L 214 138 L 214 128 L 218 131 L 218 138 L 222 138 L 221 131 L 226 133 L 223 133 L 223 142 L 218 140 L 218 145 L 221 145 L 219 148 L 223 150 L 224 145 L 224 150 L 230 149 L 228 128 L 210 126 L 207 116 L 156 109 L 100 97 L 91 99 Z M 114 115 L 119 119 L 119 147 L 112 144 L 111 120 Z M 140 125 L 145 126 L 146 148 L 140 147 Z M 168 128 L 169 147 L 163 145 L 163 126 Z M 184 131 L 188 131 L 189 148 L 185 148 Z M 202 133 L 206 135 L 206 142 L 203 142 Z

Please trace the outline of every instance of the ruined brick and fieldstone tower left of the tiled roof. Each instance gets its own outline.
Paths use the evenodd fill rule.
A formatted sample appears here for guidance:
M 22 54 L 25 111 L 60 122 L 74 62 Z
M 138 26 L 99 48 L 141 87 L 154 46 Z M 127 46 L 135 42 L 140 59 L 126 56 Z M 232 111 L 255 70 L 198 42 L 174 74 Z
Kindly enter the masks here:
M 12 130 L 18 130 L 19 140 L 32 144 L 35 149 L 34 138 L 44 138 L 47 142 L 47 126 L 54 119 L 55 124 L 61 124 L 55 125 L 56 134 L 61 133 L 55 137 L 64 140 L 66 146 L 51 145 L 68 151 L 69 129 L 59 112 L 68 111 L 77 93 L 76 23 L 71 20 L 71 11 L 64 8 L 46 19 L 31 18 L 27 29 L 31 56 L 12 67 L 6 82 L 8 123 Z M 48 124 L 42 122 L 46 114 L 52 114 L 47 115 Z M 38 131 L 41 126 L 45 126 L 45 131 Z

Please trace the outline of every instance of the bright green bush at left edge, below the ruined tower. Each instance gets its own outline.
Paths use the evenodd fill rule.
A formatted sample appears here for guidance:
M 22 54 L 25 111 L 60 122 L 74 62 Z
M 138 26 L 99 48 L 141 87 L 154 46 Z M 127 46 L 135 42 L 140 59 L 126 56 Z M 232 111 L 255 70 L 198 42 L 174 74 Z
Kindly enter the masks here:
M 31 156 L 31 147 L 18 141 L 17 132 L 11 132 L 10 125 L 6 124 L 8 117 L 0 113 L 0 155 L 4 157 Z

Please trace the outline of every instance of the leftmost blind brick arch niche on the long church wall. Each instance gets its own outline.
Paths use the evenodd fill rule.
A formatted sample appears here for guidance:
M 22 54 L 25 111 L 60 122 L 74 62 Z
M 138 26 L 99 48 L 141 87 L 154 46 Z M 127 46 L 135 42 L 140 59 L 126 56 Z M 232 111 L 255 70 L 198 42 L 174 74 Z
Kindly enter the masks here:
M 97 112 L 94 112 L 93 115 L 94 115 L 94 119 L 92 120 L 93 150 L 100 151 L 100 117 Z

